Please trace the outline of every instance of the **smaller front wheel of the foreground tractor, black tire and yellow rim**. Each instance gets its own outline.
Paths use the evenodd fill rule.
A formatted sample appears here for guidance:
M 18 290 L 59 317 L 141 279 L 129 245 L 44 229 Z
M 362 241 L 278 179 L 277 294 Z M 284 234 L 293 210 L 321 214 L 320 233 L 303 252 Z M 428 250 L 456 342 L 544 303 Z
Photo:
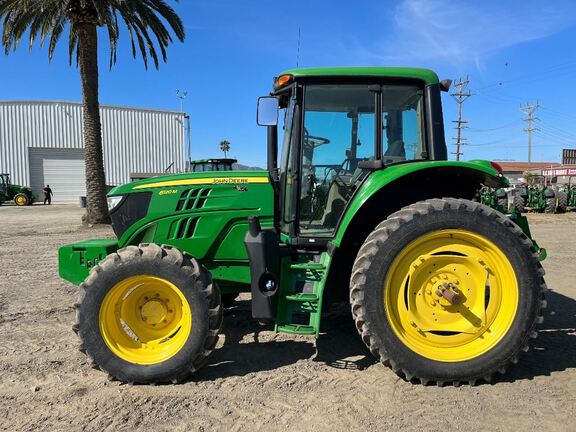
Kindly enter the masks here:
M 94 368 L 129 383 L 178 383 L 218 341 L 220 292 L 210 272 L 171 246 L 108 255 L 81 285 L 73 327 Z

